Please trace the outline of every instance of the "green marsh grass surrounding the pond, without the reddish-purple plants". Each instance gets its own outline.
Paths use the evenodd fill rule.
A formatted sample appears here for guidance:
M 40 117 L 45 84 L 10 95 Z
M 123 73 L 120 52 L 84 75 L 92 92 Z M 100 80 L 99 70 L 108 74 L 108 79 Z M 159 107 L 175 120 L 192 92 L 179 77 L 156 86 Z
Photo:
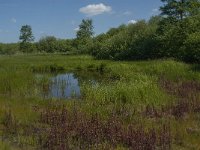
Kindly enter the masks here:
M 94 60 L 90 56 L 0 56 L 0 133 L 3 120 L 5 120 L 5 112 L 8 111 L 12 112 L 19 124 L 35 125 L 40 115 L 39 110 L 47 108 L 51 104 L 64 104 L 69 108 L 77 105 L 81 111 L 88 114 L 97 113 L 105 118 L 113 112 L 118 112 L 123 106 L 123 109 L 129 113 L 129 118 L 119 114 L 124 121 L 135 121 L 140 118 L 141 122 L 150 126 L 163 119 L 171 120 L 173 135 L 183 136 L 183 144 L 174 142 L 174 148 L 198 149 L 200 133 L 195 135 L 185 133 L 187 128 L 194 128 L 194 126 L 200 129 L 198 113 L 188 114 L 184 120 L 176 120 L 172 117 L 157 121 L 139 114 L 147 105 L 159 109 L 176 104 L 178 97 L 167 93 L 160 86 L 159 80 L 165 78 L 173 82 L 199 82 L 200 72 L 194 70 L 194 67 L 195 65 L 174 60 L 114 62 Z M 53 74 L 60 71 L 83 72 L 86 76 L 87 72 L 96 72 L 96 74 L 103 72 L 103 81 L 94 87 L 87 82 L 82 83 L 83 98 L 81 101 L 43 100 L 38 97 L 38 81 L 35 74 Z M 41 84 L 45 84 L 45 81 Z M 131 115 L 135 110 L 138 115 Z M 19 137 L 18 141 L 21 141 L 20 143 L 23 145 L 25 142 L 20 139 L 24 137 L 20 132 L 17 133 L 17 136 Z M 12 140 L 9 143 L 12 143 Z M 1 142 L 0 149 L 12 149 L 9 143 Z

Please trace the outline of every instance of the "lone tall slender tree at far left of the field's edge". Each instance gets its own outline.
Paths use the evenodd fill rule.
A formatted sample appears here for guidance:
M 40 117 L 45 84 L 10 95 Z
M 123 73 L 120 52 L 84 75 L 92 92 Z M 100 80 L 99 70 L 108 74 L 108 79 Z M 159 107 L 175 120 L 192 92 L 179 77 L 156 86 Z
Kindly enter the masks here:
M 33 44 L 31 42 L 34 41 L 34 36 L 32 33 L 32 28 L 30 25 L 24 25 L 21 27 L 20 30 L 20 50 L 22 52 L 32 52 L 33 51 Z

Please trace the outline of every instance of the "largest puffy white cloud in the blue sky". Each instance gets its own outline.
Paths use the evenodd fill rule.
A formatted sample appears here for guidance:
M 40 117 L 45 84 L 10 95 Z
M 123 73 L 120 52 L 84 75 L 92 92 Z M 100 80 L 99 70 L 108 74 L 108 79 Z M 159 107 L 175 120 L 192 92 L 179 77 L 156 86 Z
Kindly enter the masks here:
M 112 7 L 106 6 L 103 3 L 100 4 L 90 4 L 79 9 L 79 11 L 87 16 L 96 16 L 103 13 L 108 13 L 112 11 Z

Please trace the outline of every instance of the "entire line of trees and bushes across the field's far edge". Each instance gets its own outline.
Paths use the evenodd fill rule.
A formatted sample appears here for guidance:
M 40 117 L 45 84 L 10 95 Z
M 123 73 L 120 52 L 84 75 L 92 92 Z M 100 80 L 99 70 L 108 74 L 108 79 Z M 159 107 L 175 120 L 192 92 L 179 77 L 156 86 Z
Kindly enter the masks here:
M 94 37 L 93 21 L 83 19 L 75 39 L 54 36 L 33 42 L 31 26 L 22 26 L 19 44 L 0 44 L 0 53 L 77 53 L 97 59 L 145 60 L 175 58 L 200 62 L 200 1 L 161 0 L 161 14 L 148 21 L 120 25 Z M 12 49 L 12 50 L 11 50 Z

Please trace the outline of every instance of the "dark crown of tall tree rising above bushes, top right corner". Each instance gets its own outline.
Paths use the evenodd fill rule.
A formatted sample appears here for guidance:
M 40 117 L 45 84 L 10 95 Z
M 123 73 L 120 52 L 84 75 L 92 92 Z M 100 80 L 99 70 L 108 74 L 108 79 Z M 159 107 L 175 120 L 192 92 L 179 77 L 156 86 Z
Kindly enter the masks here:
M 199 0 L 161 0 L 164 6 L 160 7 L 161 15 L 177 20 L 195 15 L 199 12 Z

